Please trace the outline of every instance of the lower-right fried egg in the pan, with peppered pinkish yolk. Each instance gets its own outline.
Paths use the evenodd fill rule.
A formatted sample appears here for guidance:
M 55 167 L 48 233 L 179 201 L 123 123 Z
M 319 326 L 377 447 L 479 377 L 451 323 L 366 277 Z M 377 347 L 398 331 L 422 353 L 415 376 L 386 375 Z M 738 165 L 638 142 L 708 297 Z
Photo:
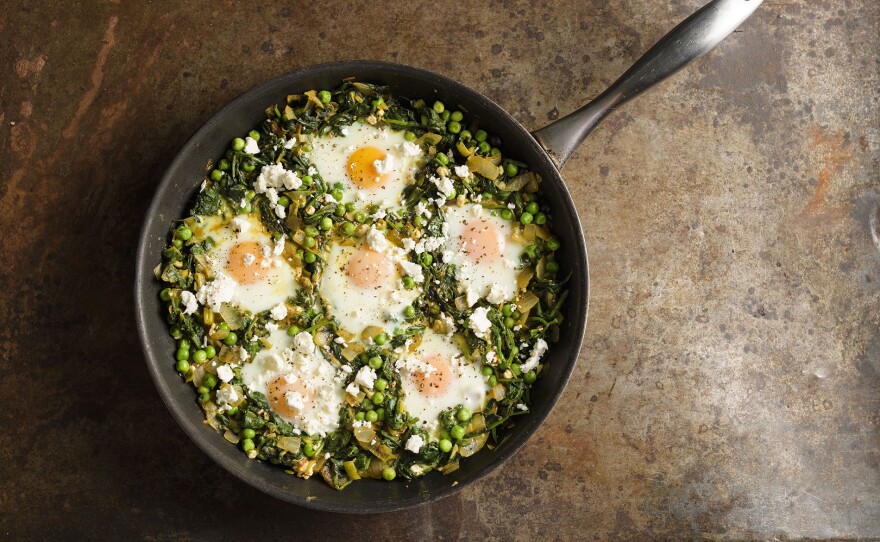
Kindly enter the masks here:
M 483 409 L 488 385 L 479 365 L 469 363 L 445 335 L 426 329 L 418 346 L 401 356 L 397 368 L 404 407 L 435 440 L 437 417 L 444 410 L 459 405 L 473 412 Z

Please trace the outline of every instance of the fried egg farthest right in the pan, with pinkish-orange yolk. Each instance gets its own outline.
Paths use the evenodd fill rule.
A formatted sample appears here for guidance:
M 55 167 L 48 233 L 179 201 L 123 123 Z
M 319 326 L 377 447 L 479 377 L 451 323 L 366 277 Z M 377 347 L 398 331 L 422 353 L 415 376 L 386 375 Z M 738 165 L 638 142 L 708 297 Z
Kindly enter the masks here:
M 468 305 L 482 297 L 496 305 L 513 299 L 525 247 L 513 240 L 510 221 L 474 204 L 444 212 L 449 233 L 443 261 L 455 264 L 459 290 L 467 295 Z

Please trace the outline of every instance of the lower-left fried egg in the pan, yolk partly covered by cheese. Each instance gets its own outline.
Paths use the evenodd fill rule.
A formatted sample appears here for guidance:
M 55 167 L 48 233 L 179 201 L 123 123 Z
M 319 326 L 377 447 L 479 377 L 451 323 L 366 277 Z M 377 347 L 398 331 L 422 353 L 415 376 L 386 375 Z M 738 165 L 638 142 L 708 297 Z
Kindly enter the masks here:
M 324 358 L 308 332 L 289 337 L 286 331 L 273 331 L 268 341 L 271 347 L 241 369 L 248 390 L 265 395 L 272 410 L 297 431 L 326 435 L 337 429 L 344 375 Z

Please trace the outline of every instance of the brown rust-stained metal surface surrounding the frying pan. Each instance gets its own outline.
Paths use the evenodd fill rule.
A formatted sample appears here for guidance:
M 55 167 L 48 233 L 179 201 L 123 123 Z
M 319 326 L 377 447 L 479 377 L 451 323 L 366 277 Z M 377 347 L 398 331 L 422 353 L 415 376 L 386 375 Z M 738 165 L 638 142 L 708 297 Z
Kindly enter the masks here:
M 765 2 L 567 164 L 593 297 L 576 376 L 506 468 L 381 518 L 233 479 L 144 367 L 158 177 L 253 84 L 371 58 L 531 129 L 696 9 L 674 2 L 11 2 L 0 13 L 0 537 L 880 537 L 880 4 Z

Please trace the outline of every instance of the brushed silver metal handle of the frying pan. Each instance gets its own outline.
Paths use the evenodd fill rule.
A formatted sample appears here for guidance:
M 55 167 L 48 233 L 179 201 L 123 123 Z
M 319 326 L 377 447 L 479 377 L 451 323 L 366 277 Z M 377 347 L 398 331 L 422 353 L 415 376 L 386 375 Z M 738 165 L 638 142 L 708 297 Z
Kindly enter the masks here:
M 672 29 L 620 79 L 574 113 L 533 132 L 561 168 L 608 113 L 712 50 L 763 0 L 713 0 Z

